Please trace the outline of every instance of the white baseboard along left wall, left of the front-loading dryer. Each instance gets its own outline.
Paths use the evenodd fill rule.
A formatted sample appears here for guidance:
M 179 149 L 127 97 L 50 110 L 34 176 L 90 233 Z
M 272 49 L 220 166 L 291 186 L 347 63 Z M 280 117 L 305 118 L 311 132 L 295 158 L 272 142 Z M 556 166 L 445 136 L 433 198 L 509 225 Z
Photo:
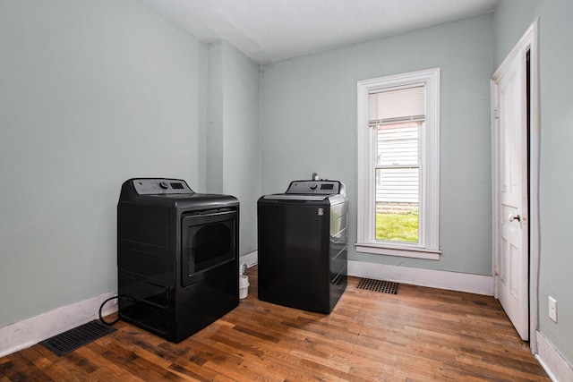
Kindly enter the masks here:
M 79 327 L 98 318 L 101 303 L 115 296 L 115 292 L 100 294 L 90 300 L 80 301 L 39 316 L 0 327 L 0 357 L 38 344 L 73 327 Z M 117 311 L 117 301 L 109 301 L 102 315 Z

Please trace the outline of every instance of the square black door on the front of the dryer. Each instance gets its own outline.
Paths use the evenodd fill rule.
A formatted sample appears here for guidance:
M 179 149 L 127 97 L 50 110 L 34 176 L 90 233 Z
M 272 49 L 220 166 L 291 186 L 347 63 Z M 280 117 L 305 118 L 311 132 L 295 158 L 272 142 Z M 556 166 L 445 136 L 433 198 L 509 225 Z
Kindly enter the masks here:
M 182 283 L 197 283 L 232 267 L 235 259 L 236 218 L 234 210 L 202 211 L 182 221 Z

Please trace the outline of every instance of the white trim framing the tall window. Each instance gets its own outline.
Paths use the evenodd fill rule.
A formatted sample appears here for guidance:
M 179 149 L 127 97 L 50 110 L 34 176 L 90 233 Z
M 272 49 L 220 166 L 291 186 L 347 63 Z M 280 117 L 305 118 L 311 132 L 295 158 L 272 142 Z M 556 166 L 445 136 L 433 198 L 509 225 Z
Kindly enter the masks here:
M 418 243 L 375 240 L 375 134 L 368 127 L 368 92 L 423 83 L 426 86 L 426 128 L 420 155 L 420 240 Z M 440 68 L 358 81 L 358 252 L 417 259 L 440 258 Z

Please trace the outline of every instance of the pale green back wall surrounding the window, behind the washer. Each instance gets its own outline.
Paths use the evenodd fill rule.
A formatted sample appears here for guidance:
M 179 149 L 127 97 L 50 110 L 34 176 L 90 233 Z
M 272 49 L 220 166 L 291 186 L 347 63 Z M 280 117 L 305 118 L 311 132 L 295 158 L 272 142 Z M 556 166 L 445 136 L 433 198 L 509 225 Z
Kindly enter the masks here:
M 261 67 L 261 186 L 346 183 L 356 240 L 356 81 L 440 67 L 440 260 L 349 259 L 492 275 L 492 14 Z

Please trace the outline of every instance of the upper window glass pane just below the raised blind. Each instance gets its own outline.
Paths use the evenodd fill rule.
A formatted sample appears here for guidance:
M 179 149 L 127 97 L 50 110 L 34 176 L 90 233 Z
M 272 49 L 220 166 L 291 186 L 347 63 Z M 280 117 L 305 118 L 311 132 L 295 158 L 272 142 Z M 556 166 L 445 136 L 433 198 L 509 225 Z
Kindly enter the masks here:
M 418 165 L 418 136 L 421 123 L 379 124 L 377 129 L 377 165 Z

